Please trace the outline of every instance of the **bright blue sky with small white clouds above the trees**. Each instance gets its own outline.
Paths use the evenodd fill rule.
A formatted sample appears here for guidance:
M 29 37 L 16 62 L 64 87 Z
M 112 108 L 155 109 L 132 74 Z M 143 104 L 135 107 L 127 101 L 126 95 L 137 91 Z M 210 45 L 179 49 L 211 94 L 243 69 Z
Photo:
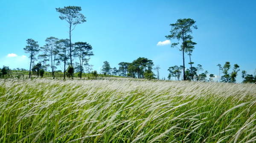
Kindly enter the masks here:
M 28 38 L 40 46 L 50 36 L 68 38 L 67 23 L 55 10 L 64 6 L 82 8 L 87 22 L 76 27 L 72 41 L 92 45 L 95 56 L 89 63 L 94 70 L 104 61 L 118 67 L 146 57 L 160 65 L 160 78 L 167 79 L 168 67 L 181 65 L 182 54 L 168 43 L 157 43 L 166 40 L 169 24 L 179 18 L 192 18 L 198 25 L 192 33 L 198 43 L 192 53 L 195 65 L 215 75 L 216 65 L 227 61 L 250 74 L 256 68 L 255 0 L 1 0 L 0 67 L 29 69 L 23 51 Z M 189 62 L 188 56 L 185 60 Z

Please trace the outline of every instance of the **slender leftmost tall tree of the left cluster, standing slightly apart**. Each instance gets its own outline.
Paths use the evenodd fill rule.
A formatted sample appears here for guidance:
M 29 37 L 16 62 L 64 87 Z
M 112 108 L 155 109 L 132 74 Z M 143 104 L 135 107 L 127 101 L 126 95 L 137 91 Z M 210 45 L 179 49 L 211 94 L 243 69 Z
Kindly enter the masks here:
M 36 60 L 35 55 L 39 52 L 39 45 L 38 42 L 33 39 L 27 39 L 26 40 L 27 45 L 26 48 L 23 48 L 25 50 L 25 53 L 29 53 L 30 58 L 30 65 L 29 65 L 29 78 L 31 76 L 31 65 Z

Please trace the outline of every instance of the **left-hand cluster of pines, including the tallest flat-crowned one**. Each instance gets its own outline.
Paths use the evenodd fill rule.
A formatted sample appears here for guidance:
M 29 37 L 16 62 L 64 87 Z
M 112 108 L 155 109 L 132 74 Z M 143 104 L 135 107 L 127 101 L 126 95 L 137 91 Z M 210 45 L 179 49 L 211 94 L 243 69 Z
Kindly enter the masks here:
M 87 42 L 71 42 L 72 31 L 76 28 L 76 25 L 86 22 L 83 14 L 80 13 L 81 7 L 79 6 L 67 6 L 64 8 L 56 8 L 56 11 L 60 14 L 59 18 L 65 20 L 69 25 L 69 39 L 58 39 L 56 37 L 48 37 L 43 47 L 38 45 L 38 42 L 34 39 L 26 40 L 26 53 L 29 53 L 30 65 L 29 65 L 29 78 L 31 77 L 31 70 L 43 74 L 44 70 L 50 67 L 52 77 L 55 78 L 55 69 L 57 65 L 63 65 L 64 79 L 66 75 L 73 78 L 74 70 L 79 71 L 81 78 L 84 70 L 84 65 L 88 65 L 90 56 L 93 56 L 92 46 Z M 32 67 L 32 64 L 36 61 L 36 55 L 38 52 L 38 59 L 41 61 Z M 74 59 L 77 58 L 79 62 L 73 65 Z M 49 63 L 48 63 L 49 62 Z M 67 67 L 68 66 L 68 67 Z M 41 71 L 41 72 L 40 72 Z M 67 72 L 66 72 L 67 71 Z

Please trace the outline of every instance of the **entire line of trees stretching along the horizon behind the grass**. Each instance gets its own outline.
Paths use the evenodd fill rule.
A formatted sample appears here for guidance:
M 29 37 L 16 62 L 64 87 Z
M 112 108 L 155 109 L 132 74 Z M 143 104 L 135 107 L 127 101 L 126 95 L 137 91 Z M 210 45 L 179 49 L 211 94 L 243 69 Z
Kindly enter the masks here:
M 50 68 L 52 78 L 55 78 L 56 66 L 62 65 L 65 79 L 66 76 L 73 78 L 74 72 L 79 73 L 79 77 L 82 78 L 82 73 L 90 73 L 93 65 L 88 62 L 90 56 L 93 56 L 92 46 L 87 42 L 75 42 L 72 43 L 72 31 L 76 28 L 78 24 L 86 22 L 84 15 L 81 14 L 80 6 L 67 6 L 64 8 L 55 8 L 60 14 L 60 20 L 64 20 L 68 23 L 69 37 L 68 39 L 58 39 L 56 37 L 48 37 L 45 40 L 45 45 L 40 47 L 38 42 L 34 39 L 26 40 L 26 47 L 23 48 L 26 53 L 29 54 L 29 78 L 31 77 L 31 72 L 36 73 L 37 76 L 43 76 L 44 72 Z M 207 70 L 203 70 L 201 64 L 197 64 L 194 67 L 194 62 L 192 62 L 192 52 L 195 49 L 196 42 L 193 41 L 192 30 L 198 29 L 195 25 L 196 21 L 190 18 L 178 19 L 175 23 L 170 24 L 171 31 L 170 34 L 165 36 L 166 39 L 170 39 L 176 42 L 172 42 L 171 47 L 177 47 L 182 53 L 182 63 L 183 65 L 174 65 L 168 68 L 169 75 L 168 79 L 175 80 L 189 80 L 189 81 L 213 81 L 215 78 L 214 74 L 209 74 L 209 79 L 207 79 Z M 185 67 L 185 56 L 189 56 L 189 67 Z M 35 61 L 40 59 L 40 61 L 35 64 Z M 78 61 L 73 63 L 74 61 Z M 120 62 L 119 67 L 110 67 L 109 62 L 105 61 L 101 68 L 104 75 L 115 75 L 139 79 L 159 79 L 159 69 L 157 66 L 154 68 L 157 72 L 157 78 L 155 78 L 153 73 L 154 63 L 152 60 L 145 57 L 139 57 L 133 62 Z M 221 64 L 217 65 L 219 67 L 219 82 L 236 82 L 236 77 L 240 71 L 239 65 L 234 64 L 233 70 L 230 70 L 230 62 L 226 62 L 223 66 Z M 4 66 L 1 69 L 1 76 L 6 75 L 6 71 L 9 67 Z M 221 75 L 222 73 L 222 75 Z M 246 71 L 242 71 L 242 78 L 244 82 L 255 82 L 255 75 L 246 74 Z M 97 75 L 96 71 L 92 72 L 93 75 Z

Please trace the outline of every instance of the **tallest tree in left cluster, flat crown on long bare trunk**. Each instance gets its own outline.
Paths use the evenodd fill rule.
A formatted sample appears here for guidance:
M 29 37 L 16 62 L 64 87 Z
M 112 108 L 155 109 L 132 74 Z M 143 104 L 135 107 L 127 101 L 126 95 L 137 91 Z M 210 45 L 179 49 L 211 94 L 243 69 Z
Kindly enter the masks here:
M 56 11 L 60 13 L 59 18 L 65 20 L 69 24 L 69 41 L 70 41 L 70 64 L 72 64 L 72 44 L 71 44 L 71 32 L 76 28 L 76 25 L 86 22 L 84 15 L 80 13 L 80 6 L 65 6 L 64 8 L 56 8 Z

